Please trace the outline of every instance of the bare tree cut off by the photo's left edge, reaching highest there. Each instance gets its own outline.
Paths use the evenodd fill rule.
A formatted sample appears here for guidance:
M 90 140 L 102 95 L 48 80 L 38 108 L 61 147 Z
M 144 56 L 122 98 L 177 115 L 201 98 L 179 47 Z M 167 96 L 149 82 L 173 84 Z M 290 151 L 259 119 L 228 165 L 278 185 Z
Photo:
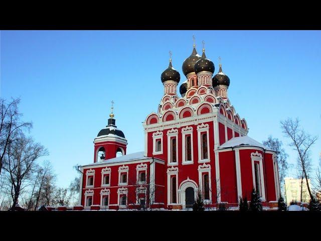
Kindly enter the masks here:
M 3 169 L 8 146 L 15 142 L 24 129 L 32 128 L 31 123 L 20 121 L 22 113 L 18 111 L 20 98 L 12 98 L 11 102 L 0 99 L 0 174 Z

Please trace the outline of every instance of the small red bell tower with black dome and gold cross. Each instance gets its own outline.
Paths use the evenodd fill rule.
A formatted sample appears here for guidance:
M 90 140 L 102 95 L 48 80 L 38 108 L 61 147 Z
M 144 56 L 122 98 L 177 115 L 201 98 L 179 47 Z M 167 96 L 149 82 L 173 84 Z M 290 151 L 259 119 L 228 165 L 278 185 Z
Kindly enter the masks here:
M 115 158 L 117 154 L 126 155 L 127 140 L 122 131 L 117 129 L 114 119 L 113 104 L 111 101 L 111 113 L 109 114 L 108 125 L 101 129 L 94 139 L 94 162 L 103 162 Z

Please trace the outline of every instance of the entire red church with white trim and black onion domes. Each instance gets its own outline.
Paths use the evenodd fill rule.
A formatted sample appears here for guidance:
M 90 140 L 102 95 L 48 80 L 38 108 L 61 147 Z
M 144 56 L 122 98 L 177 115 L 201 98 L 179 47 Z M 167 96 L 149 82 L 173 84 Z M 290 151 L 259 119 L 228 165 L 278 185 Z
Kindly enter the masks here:
M 127 154 L 127 140 L 114 115 L 94 139 L 94 162 L 81 166 L 79 204 L 85 209 L 187 209 L 201 196 L 209 208 L 238 207 L 255 189 L 263 206 L 280 195 L 277 156 L 247 136 L 244 118 L 228 98 L 229 77 L 198 55 L 184 61 L 186 81 L 169 67 L 164 96 L 147 115 L 144 150 Z M 117 153 L 120 156 L 117 157 Z

